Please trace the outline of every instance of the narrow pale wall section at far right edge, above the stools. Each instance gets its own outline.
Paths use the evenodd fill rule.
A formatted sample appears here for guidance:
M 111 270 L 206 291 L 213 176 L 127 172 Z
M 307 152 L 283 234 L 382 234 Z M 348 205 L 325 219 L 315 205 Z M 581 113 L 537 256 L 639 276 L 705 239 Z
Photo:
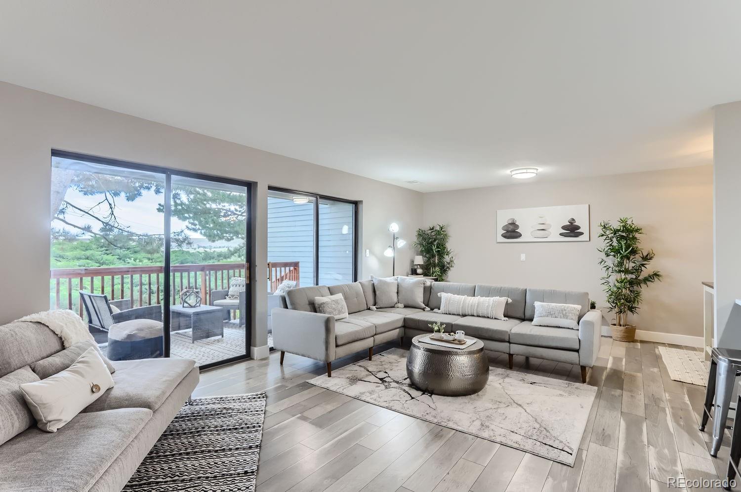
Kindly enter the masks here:
M 715 107 L 713 145 L 715 345 L 741 349 L 741 101 Z

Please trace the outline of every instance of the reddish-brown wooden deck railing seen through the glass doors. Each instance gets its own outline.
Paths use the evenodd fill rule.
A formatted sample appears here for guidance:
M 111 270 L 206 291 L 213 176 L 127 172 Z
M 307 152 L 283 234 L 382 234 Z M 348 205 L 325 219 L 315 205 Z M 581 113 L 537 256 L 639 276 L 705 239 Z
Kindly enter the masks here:
M 82 316 L 81 290 L 107 294 L 110 300 L 130 299 L 132 307 L 165 302 L 163 266 L 104 266 L 99 268 L 53 269 L 50 271 L 50 307 L 72 309 Z M 183 289 L 200 289 L 202 303 L 210 304 L 211 291 L 229 289 L 232 277 L 246 278 L 246 263 L 173 265 L 168 300 L 180 302 Z M 272 292 L 283 280 L 299 282 L 299 262 L 268 263 L 268 286 Z

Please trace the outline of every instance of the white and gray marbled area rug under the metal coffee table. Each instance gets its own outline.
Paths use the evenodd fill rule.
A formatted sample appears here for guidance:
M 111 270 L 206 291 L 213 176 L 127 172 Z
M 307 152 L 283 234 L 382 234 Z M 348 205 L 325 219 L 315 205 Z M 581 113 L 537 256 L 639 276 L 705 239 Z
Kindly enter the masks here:
M 574 466 L 597 388 L 491 367 L 479 393 L 440 397 L 410 385 L 407 354 L 392 348 L 309 383 Z

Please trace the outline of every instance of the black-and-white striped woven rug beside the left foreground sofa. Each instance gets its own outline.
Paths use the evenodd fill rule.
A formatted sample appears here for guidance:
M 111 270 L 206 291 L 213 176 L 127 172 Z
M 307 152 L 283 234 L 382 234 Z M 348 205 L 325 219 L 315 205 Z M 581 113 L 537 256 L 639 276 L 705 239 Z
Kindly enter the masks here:
M 186 404 L 124 491 L 254 491 L 265 393 L 199 398 Z

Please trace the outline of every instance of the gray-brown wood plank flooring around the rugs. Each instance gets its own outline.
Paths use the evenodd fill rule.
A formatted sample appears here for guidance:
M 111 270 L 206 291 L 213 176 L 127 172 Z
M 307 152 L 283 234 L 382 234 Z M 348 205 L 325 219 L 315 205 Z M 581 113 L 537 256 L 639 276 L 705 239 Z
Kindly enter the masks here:
M 573 468 L 316 388 L 307 380 L 325 364 L 292 354 L 282 366 L 273 352 L 205 371 L 193 397 L 268 393 L 258 491 L 649 492 L 667 490 L 670 477 L 722 477 L 730 436 L 712 459 L 712 421 L 697 430 L 705 388 L 672 381 L 658 345 L 602 338 L 587 380 L 597 398 Z M 488 355 L 506 368 L 506 355 Z M 565 363 L 515 357 L 514 370 L 580 382 L 579 366 Z

